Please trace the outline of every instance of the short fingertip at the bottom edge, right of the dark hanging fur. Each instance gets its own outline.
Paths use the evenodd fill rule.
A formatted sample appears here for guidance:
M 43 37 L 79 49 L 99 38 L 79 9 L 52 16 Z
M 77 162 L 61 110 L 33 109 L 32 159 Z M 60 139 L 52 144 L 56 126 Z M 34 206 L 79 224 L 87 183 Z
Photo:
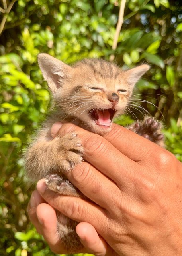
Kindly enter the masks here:
M 81 222 L 76 226 L 76 233 L 80 237 L 83 246 L 96 256 L 114 255 L 112 248 L 98 235 L 96 229 L 87 222 Z

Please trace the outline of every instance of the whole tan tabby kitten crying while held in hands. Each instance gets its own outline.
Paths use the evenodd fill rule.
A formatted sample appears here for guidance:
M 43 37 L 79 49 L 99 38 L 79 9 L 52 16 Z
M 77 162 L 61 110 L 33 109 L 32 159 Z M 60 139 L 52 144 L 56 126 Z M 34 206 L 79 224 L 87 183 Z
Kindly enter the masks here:
M 54 110 L 27 149 L 27 174 L 32 180 L 46 178 L 48 188 L 55 192 L 85 198 L 64 176 L 82 161 L 81 141 L 76 134 L 53 139 L 51 126 L 56 121 L 77 119 L 91 132 L 109 132 L 113 118 L 125 112 L 135 83 L 149 66 L 123 71 L 101 59 L 84 59 L 68 66 L 48 54 L 39 54 L 38 63 L 53 94 Z M 160 123 L 153 118 L 137 121 L 129 129 L 162 145 Z M 61 213 L 57 217 L 58 233 L 67 252 L 80 250 L 82 244 L 75 231 L 78 223 Z

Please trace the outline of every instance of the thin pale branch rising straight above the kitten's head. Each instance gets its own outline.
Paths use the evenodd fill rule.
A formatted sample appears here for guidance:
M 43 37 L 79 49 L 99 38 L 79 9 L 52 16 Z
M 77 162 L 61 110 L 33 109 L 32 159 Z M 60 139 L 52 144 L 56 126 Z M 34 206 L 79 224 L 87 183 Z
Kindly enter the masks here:
M 115 50 L 117 48 L 117 41 L 119 38 L 119 33 L 121 31 L 121 27 L 122 27 L 123 21 L 124 21 L 125 4 L 126 4 L 126 0 L 121 0 L 121 6 L 119 8 L 119 18 L 118 18 L 116 31 L 115 31 L 115 35 L 114 35 L 114 40 L 113 40 L 113 45 L 112 45 L 113 50 Z M 110 56 L 110 61 L 114 60 L 114 58 L 115 58 L 115 56 L 114 56 L 114 54 L 112 54 Z

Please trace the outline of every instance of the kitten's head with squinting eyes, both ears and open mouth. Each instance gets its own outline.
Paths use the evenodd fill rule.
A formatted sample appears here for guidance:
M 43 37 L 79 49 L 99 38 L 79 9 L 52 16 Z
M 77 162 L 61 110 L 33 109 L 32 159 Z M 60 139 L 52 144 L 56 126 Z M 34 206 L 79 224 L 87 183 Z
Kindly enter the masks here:
M 39 66 L 63 119 L 79 119 L 87 130 L 101 135 L 110 130 L 113 118 L 125 112 L 135 83 L 149 69 L 145 64 L 123 71 L 100 59 L 70 67 L 48 54 L 39 54 Z

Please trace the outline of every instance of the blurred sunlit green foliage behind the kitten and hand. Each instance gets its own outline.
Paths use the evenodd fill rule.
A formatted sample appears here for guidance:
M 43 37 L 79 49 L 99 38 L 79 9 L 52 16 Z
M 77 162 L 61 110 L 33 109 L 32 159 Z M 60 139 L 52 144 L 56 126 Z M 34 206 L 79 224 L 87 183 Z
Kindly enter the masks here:
M 120 4 L 120 0 L 0 1 L 1 256 L 54 255 L 29 223 L 26 207 L 33 188 L 23 181 L 21 160 L 50 106 L 51 96 L 37 65 L 40 52 L 68 64 L 85 57 L 109 60 L 112 54 L 125 69 L 150 64 L 135 88 L 133 113 L 116 122 L 126 125 L 143 114 L 155 116 L 164 123 L 168 150 L 182 160 L 182 2 L 127 0 L 113 50 Z

